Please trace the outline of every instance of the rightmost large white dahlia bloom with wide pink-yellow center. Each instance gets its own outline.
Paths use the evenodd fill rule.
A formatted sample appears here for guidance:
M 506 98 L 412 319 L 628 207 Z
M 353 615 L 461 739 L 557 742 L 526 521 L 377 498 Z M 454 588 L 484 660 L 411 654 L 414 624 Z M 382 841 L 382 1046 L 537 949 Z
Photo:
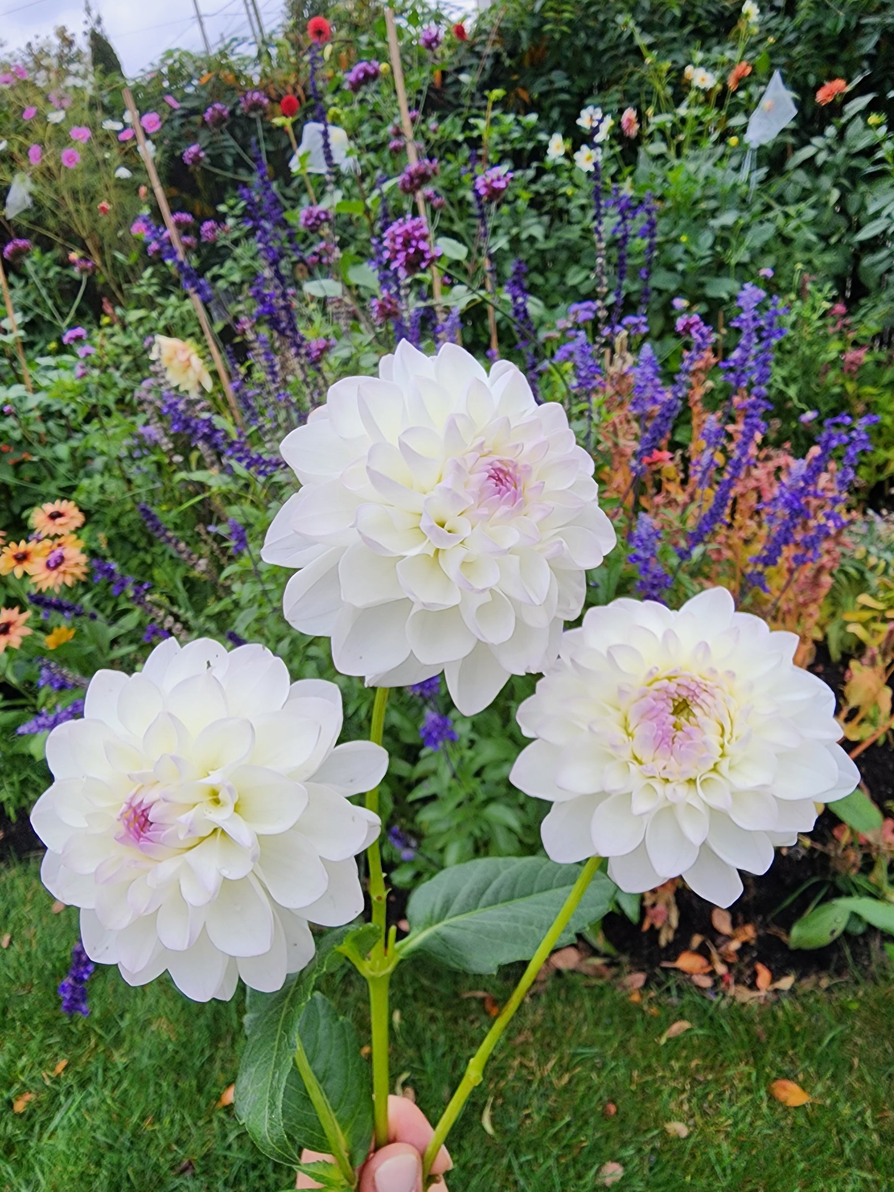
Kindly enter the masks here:
M 817 802 L 859 772 L 836 744 L 834 695 L 793 663 L 797 638 L 737 613 L 722 588 L 679 611 L 652 601 L 592 608 L 519 708 L 536 740 L 511 781 L 552 811 L 553 861 L 608 857 L 625 890 L 670 877 L 718 906 L 794 844 Z

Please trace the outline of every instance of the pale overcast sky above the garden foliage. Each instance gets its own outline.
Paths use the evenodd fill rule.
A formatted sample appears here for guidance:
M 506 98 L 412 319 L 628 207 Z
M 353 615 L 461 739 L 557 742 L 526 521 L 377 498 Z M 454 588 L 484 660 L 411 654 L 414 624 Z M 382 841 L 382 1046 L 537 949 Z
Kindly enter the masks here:
M 284 0 L 255 0 L 266 29 L 278 24 Z M 449 0 L 447 11 L 471 11 L 474 0 Z M 484 7 L 484 5 L 482 5 Z M 250 38 L 246 0 L 199 0 L 209 41 L 217 45 L 229 37 Z M 201 33 L 193 0 L 93 0 L 108 39 L 129 75 L 155 62 L 164 50 L 201 49 Z M 0 0 L 0 45 L 8 54 L 35 37 L 45 37 L 57 25 L 83 33 L 83 0 Z

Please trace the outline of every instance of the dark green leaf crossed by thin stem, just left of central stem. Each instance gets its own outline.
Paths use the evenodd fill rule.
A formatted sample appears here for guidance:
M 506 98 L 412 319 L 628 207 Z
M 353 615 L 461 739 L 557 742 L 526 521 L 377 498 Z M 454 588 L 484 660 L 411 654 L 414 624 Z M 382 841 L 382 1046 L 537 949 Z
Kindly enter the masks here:
M 373 1136 L 372 1081 L 360 1055 L 360 1037 L 354 1024 L 340 1017 L 322 993 L 311 995 L 298 1023 L 298 1036 L 356 1167 L 366 1159 Z M 302 1147 L 323 1153 L 331 1149 L 294 1064 L 283 1089 L 283 1126 L 290 1142 L 300 1141 Z

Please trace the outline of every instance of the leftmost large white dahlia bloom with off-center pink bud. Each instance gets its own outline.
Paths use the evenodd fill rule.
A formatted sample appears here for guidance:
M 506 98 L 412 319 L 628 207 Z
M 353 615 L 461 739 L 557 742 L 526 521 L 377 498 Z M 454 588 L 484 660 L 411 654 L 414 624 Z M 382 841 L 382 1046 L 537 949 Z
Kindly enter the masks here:
M 341 724 L 334 683 L 290 684 L 259 645 L 169 638 L 137 675 L 98 671 L 83 720 L 46 739 L 55 782 L 31 813 L 44 884 L 81 907 L 91 960 L 131 985 L 167 969 L 197 1001 L 304 968 L 308 923 L 362 909 L 354 857 L 379 831 L 347 796 L 387 753 L 336 746 Z

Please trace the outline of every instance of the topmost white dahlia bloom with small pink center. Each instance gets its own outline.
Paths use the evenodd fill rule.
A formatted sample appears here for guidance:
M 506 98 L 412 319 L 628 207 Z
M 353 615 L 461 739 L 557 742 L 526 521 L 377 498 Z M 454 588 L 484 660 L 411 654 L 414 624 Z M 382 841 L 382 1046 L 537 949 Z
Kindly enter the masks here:
M 564 409 L 538 405 L 515 365 L 489 375 L 453 343 L 403 341 L 379 373 L 333 385 L 283 442 L 302 488 L 262 554 L 299 569 L 286 619 L 331 637 L 342 673 L 443 671 L 471 715 L 555 658 L 615 534 Z

